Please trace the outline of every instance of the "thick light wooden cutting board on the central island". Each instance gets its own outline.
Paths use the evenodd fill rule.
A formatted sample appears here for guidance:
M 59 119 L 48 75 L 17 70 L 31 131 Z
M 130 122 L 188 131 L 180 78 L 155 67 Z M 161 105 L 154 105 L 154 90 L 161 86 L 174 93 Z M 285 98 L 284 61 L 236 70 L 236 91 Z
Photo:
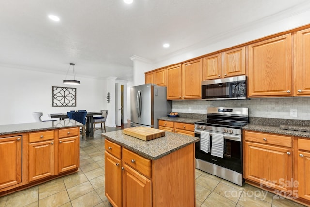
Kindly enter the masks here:
M 123 132 L 145 141 L 165 136 L 165 131 L 149 127 L 124 128 Z

